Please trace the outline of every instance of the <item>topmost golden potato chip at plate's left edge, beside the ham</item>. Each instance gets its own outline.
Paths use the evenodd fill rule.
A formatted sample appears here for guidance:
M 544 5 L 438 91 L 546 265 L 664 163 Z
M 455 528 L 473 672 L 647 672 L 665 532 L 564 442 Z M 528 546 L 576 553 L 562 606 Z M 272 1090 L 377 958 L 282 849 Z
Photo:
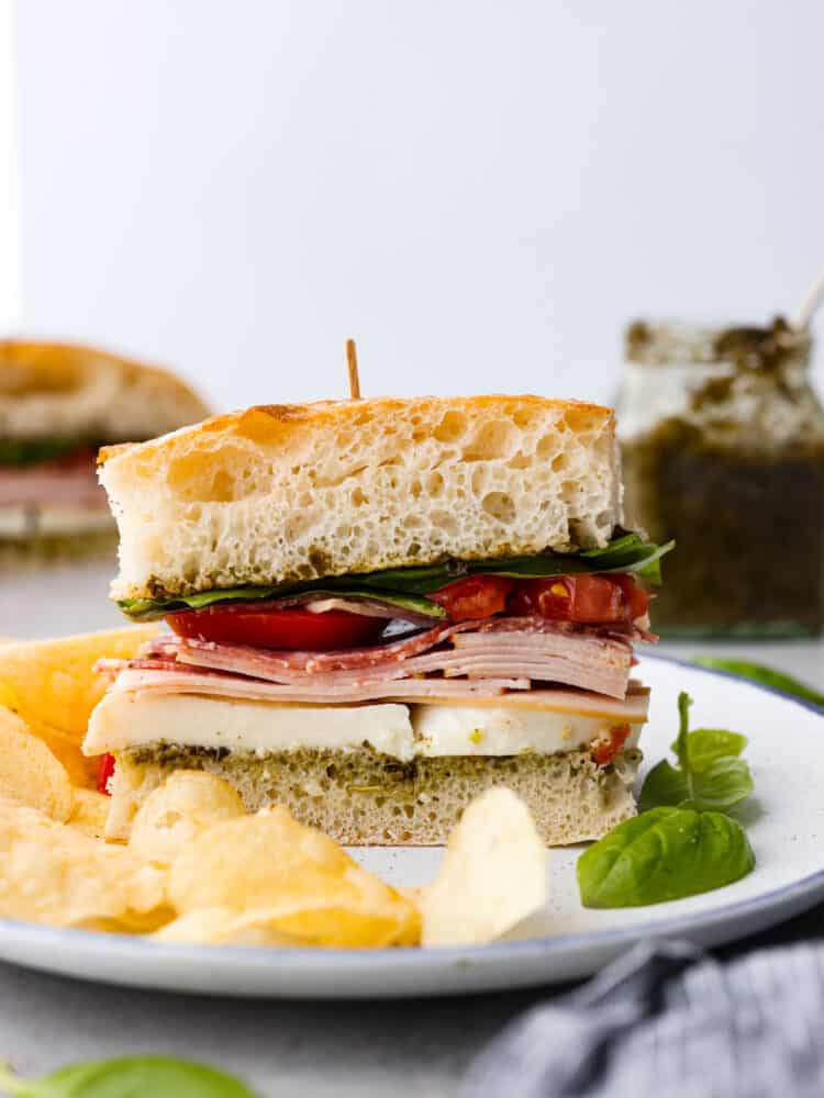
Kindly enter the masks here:
M 0 649 L 0 705 L 19 714 L 35 736 L 59 736 L 79 747 L 107 685 L 92 671 L 97 661 L 131 659 L 158 631 L 155 625 L 127 626 L 5 645 Z

